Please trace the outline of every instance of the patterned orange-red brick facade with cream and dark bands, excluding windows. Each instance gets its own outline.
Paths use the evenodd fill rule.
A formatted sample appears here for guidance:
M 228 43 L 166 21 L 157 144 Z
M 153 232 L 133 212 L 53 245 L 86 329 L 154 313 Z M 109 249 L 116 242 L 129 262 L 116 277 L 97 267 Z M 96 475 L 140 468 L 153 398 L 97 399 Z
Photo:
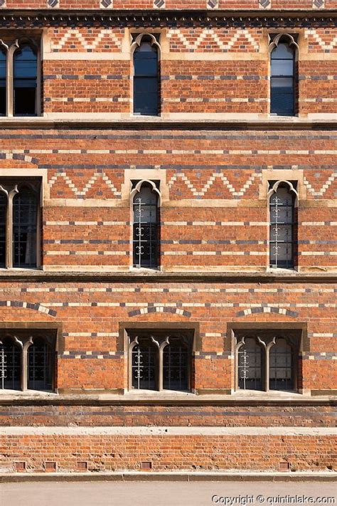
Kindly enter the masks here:
M 0 390 L 0 473 L 336 468 L 336 2 L 0 7 L 3 47 L 41 48 L 41 115 L 0 117 L 0 184 L 41 182 L 41 265 L 1 269 L 0 337 L 22 357 L 37 334 L 53 342 L 51 391 Z M 144 31 L 156 117 L 132 115 Z M 270 114 L 279 33 L 296 46 L 294 117 Z M 134 267 L 137 181 L 159 195 L 157 269 Z M 276 181 L 296 190 L 294 269 L 269 268 Z M 129 339 L 171 331 L 193 335 L 188 392 L 131 389 Z M 252 332 L 294 335 L 294 391 L 238 389 Z

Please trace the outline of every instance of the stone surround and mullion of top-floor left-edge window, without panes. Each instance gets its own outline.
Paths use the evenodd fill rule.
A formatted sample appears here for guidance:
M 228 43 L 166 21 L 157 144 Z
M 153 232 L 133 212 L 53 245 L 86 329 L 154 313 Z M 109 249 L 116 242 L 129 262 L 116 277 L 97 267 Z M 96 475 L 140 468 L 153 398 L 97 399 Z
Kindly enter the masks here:
M 36 115 L 41 116 L 41 42 L 31 36 L 21 36 L 15 41 L 0 38 L 0 49 L 6 51 L 6 117 L 14 117 L 14 53 L 23 44 L 28 44 L 36 50 L 37 85 L 36 85 Z M 15 116 L 19 117 L 19 116 Z

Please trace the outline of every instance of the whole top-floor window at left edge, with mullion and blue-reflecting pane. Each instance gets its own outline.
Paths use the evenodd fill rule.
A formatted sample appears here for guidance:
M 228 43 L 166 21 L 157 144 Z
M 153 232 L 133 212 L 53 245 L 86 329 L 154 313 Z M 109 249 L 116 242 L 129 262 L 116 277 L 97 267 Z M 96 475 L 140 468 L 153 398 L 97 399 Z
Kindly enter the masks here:
M 0 40 L 0 115 L 41 115 L 40 41 Z

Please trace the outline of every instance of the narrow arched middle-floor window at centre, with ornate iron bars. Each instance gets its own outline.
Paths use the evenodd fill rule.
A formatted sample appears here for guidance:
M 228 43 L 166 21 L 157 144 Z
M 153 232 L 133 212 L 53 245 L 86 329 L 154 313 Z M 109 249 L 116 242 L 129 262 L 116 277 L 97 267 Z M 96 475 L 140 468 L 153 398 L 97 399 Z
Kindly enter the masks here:
M 134 267 L 158 267 L 158 199 L 150 186 L 134 196 Z

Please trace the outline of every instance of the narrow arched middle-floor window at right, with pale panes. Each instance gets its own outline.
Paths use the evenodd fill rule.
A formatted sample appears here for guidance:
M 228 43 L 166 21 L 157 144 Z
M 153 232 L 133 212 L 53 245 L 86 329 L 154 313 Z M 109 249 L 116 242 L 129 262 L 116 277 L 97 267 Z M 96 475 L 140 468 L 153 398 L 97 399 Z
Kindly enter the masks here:
M 279 186 L 270 197 L 270 267 L 294 267 L 294 193 Z

